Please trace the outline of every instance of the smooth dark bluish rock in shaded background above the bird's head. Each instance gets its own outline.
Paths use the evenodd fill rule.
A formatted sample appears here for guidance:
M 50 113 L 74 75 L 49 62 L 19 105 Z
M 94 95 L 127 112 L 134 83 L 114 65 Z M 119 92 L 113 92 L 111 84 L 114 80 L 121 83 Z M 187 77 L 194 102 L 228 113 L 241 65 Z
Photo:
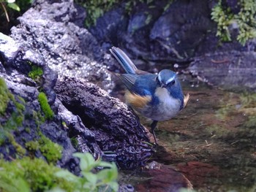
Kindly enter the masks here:
M 195 55 L 198 45 L 214 27 L 208 1 L 175 1 L 154 23 L 151 39 L 162 47 L 162 57 L 184 59 Z

